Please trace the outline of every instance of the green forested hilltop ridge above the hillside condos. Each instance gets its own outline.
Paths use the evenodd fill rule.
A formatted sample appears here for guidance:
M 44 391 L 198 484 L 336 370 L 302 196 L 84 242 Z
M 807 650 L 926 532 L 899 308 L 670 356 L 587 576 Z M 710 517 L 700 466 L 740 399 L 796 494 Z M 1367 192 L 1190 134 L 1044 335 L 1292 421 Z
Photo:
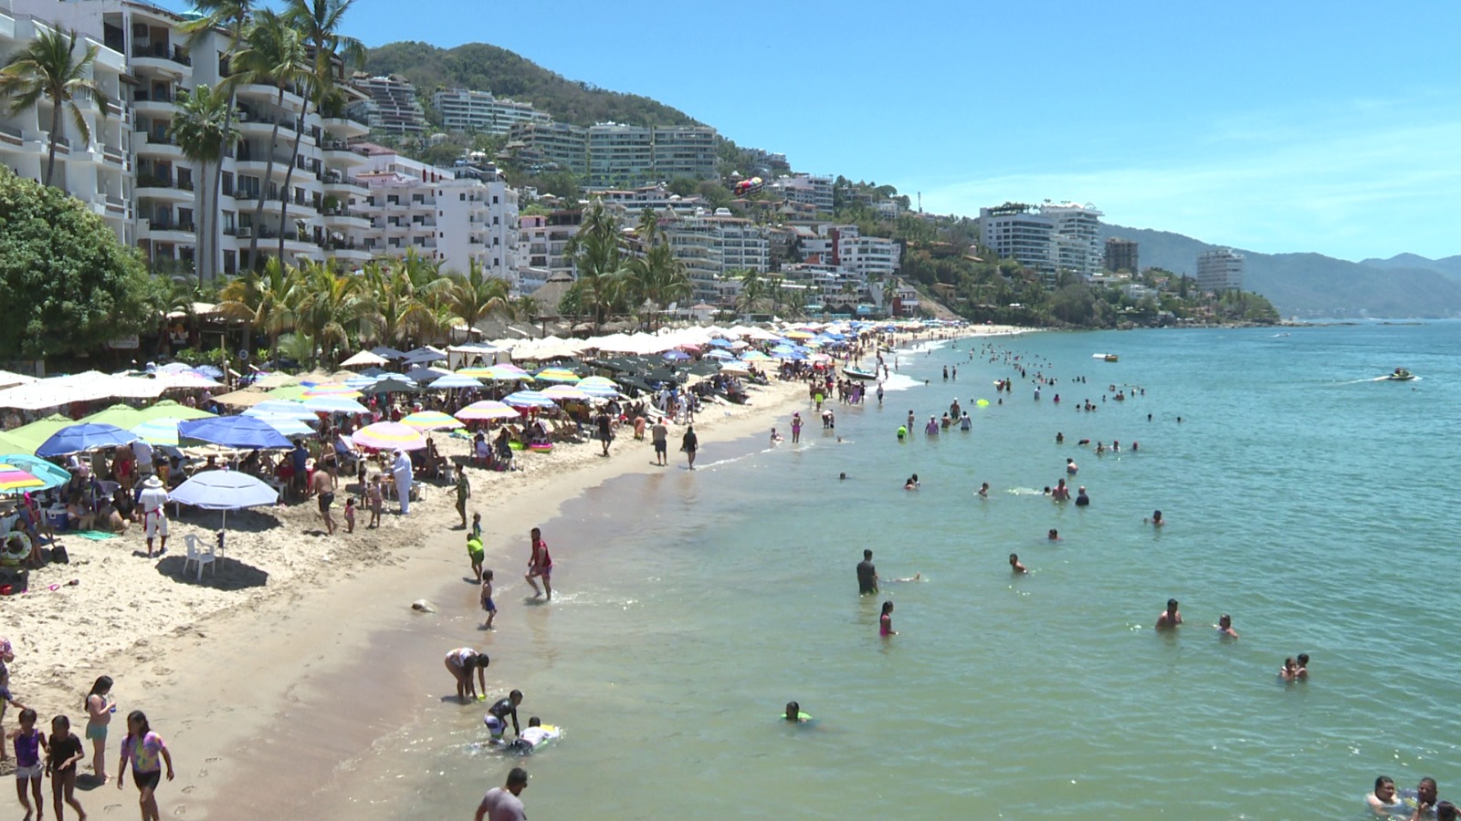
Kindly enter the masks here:
M 637 93 L 605 91 L 570 80 L 506 48 L 468 42 L 437 48 L 427 42 L 390 42 L 368 50 L 365 70 L 399 75 L 416 86 L 425 104 L 438 88 L 489 91 L 532 102 L 561 123 L 592 126 L 615 121 L 633 126 L 698 126 L 684 111 Z

